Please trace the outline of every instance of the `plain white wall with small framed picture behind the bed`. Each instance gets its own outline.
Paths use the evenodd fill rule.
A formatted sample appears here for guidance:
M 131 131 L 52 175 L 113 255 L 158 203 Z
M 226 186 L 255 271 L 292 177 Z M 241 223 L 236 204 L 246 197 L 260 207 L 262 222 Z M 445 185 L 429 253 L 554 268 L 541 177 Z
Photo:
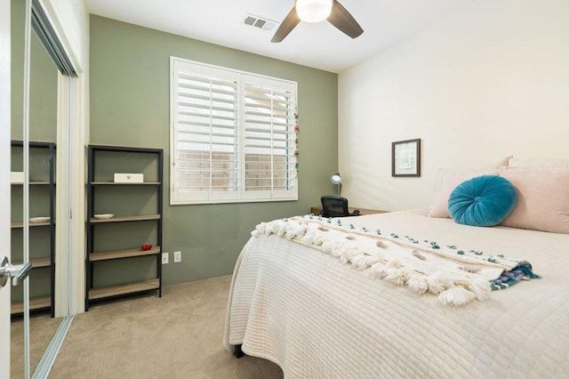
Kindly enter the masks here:
M 439 168 L 569 157 L 569 1 L 480 0 L 339 76 L 350 206 L 427 208 Z M 421 178 L 391 177 L 391 142 L 422 140 Z

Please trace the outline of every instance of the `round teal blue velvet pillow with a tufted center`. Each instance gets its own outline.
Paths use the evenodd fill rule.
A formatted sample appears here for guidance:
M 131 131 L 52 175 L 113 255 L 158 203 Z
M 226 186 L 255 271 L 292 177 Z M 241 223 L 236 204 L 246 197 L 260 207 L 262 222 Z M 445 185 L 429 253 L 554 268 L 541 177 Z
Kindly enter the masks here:
M 448 199 L 455 222 L 471 226 L 494 226 L 504 221 L 516 206 L 517 192 L 501 176 L 482 175 L 462 181 Z

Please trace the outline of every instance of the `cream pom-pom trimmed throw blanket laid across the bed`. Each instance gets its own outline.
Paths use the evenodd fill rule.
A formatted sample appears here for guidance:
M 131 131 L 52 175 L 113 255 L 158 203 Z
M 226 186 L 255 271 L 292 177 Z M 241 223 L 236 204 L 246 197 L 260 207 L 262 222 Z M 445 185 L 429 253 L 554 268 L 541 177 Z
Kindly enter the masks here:
M 521 279 L 540 278 L 525 260 L 393 232 L 384 236 L 381 230 L 365 227 L 356 230 L 349 221 L 310 214 L 261 222 L 251 235 L 274 234 L 314 247 L 357 270 L 370 270 L 374 278 L 409 286 L 417 294 L 437 294 L 440 302 L 453 306 L 483 301 L 491 290 L 513 286 Z

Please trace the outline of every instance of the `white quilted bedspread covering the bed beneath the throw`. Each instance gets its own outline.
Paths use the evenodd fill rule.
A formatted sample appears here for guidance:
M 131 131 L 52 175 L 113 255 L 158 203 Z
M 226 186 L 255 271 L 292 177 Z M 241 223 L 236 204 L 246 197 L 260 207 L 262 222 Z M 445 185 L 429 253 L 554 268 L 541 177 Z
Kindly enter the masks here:
M 243 344 L 292 378 L 569 377 L 569 235 L 476 228 L 424 212 L 350 218 L 379 228 L 525 258 L 541 279 L 453 308 L 276 236 L 240 254 L 223 343 Z

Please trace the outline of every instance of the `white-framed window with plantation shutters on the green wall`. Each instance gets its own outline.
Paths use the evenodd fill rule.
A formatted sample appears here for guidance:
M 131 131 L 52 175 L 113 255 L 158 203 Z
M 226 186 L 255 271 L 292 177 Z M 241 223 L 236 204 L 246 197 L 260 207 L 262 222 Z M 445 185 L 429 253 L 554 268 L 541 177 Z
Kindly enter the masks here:
M 171 58 L 171 204 L 298 198 L 296 83 Z

